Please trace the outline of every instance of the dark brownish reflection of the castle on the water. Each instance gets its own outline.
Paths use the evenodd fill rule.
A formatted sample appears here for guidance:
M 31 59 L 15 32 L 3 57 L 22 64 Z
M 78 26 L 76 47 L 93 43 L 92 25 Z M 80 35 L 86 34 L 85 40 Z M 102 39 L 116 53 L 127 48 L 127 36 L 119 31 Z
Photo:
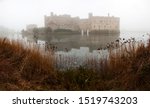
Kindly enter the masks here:
M 30 40 L 34 40 L 33 36 Z M 56 35 L 56 36 L 39 36 L 39 40 L 45 41 L 50 47 L 55 46 L 56 51 L 71 51 L 73 49 L 80 49 L 80 47 L 89 48 L 89 52 L 97 49 L 103 49 L 108 43 L 119 38 L 119 34 L 113 35 Z M 81 48 L 83 49 L 83 48 Z

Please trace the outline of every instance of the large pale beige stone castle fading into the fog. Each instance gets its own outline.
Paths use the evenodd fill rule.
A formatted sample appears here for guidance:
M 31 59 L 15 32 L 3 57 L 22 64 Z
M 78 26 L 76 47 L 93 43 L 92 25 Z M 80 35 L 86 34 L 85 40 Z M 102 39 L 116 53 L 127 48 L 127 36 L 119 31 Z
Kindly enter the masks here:
M 52 30 L 68 29 L 72 31 L 86 32 L 120 32 L 120 18 L 113 16 L 93 16 L 89 13 L 87 19 L 79 17 L 71 17 L 70 15 L 54 15 L 51 12 L 50 16 L 44 17 L 45 27 L 50 27 Z

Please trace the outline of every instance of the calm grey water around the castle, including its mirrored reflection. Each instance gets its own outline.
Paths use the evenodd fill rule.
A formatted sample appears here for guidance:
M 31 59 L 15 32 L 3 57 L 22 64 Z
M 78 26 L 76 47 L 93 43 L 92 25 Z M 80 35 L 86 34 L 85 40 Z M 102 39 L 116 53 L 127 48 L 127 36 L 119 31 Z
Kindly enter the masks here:
M 106 46 L 118 39 L 134 38 L 136 41 L 146 43 L 149 35 L 145 32 L 121 32 L 117 35 L 56 35 L 40 36 L 35 40 L 33 36 L 22 37 L 20 34 L 10 35 L 10 39 L 23 40 L 25 43 L 38 44 L 47 51 L 47 46 L 55 52 L 58 68 L 77 67 L 84 65 L 87 59 L 99 60 L 108 57 Z M 27 45 L 27 44 L 26 44 Z M 46 47 L 45 47 L 46 46 Z

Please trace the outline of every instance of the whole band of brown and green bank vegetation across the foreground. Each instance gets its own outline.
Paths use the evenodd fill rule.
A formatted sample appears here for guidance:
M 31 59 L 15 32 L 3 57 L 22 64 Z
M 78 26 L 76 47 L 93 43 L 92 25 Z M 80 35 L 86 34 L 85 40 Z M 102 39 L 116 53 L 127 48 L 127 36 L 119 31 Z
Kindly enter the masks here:
M 0 39 L 0 90 L 150 90 L 150 42 L 129 42 L 109 58 L 60 71 L 51 54 Z

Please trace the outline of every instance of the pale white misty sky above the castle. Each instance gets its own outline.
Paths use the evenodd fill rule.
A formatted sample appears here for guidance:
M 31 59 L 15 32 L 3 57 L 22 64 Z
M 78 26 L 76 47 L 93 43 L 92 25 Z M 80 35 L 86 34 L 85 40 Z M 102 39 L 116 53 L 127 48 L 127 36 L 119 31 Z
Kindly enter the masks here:
M 0 25 L 21 30 L 27 24 L 44 26 L 50 12 L 87 18 L 120 17 L 121 30 L 150 31 L 150 0 L 0 0 Z

